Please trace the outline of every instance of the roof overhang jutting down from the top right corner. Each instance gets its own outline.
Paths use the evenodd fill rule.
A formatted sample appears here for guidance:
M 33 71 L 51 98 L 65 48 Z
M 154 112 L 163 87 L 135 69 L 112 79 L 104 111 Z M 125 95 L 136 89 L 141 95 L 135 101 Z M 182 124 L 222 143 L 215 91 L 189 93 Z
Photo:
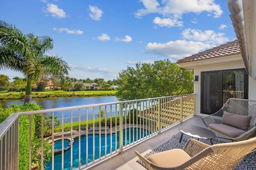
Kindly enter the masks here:
M 227 0 L 247 73 L 256 80 L 256 0 Z

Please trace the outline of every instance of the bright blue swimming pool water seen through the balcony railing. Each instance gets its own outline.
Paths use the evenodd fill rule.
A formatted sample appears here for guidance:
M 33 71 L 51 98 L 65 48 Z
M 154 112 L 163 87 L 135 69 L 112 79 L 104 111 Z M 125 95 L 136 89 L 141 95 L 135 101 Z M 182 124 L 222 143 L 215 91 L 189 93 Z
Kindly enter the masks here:
M 132 134 L 132 129 L 131 129 Z M 125 130 L 123 130 L 123 144 L 130 144 L 133 142 L 131 135 L 131 141 L 129 141 L 129 135 L 130 135 L 129 129 L 126 129 L 126 141 L 125 141 Z M 143 137 L 149 135 L 147 131 L 143 131 L 143 129 L 138 129 L 138 139 L 141 139 Z M 134 128 L 134 141 L 137 140 L 137 129 Z M 107 137 L 107 145 L 105 146 L 105 135 L 101 135 L 101 156 L 105 155 L 105 147 L 107 148 L 107 154 L 110 153 L 110 134 L 106 135 Z M 112 152 L 115 151 L 116 145 L 115 145 L 115 139 L 117 137 L 117 148 L 119 148 L 119 132 L 117 135 L 115 133 L 112 134 Z M 95 148 L 93 148 L 93 138 L 92 135 L 88 135 L 88 163 L 93 161 L 93 150 L 95 152 L 95 160 L 100 158 L 99 157 L 99 135 L 95 134 Z M 60 142 L 61 143 L 61 142 Z M 61 145 L 61 144 L 60 144 Z M 70 155 L 71 150 L 67 150 L 64 152 L 64 170 L 70 170 Z M 78 139 L 74 140 L 73 143 L 73 169 L 78 168 Z M 54 156 L 54 170 L 60 170 L 61 169 L 61 161 L 62 161 L 62 154 Z M 86 164 L 86 136 L 81 137 L 81 162 L 82 165 Z M 50 162 L 47 163 L 45 170 L 52 170 L 52 159 Z

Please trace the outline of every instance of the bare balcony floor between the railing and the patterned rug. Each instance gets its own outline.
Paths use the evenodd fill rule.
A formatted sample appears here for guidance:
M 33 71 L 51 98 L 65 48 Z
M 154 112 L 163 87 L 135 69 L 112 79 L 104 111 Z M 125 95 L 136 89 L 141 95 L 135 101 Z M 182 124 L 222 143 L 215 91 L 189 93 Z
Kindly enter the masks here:
M 204 123 L 201 120 L 200 116 L 193 116 L 183 123 L 179 123 L 165 131 L 162 131 L 161 134 L 154 135 L 153 137 L 138 143 L 134 147 L 130 147 L 127 150 L 124 150 L 123 154 L 116 154 L 111 158 L 107 158 L 103 162 L 99 162 L 98 164 L 86 168 L 89 170 L 146 170 L 143 166 L 141 166 L 136 160 L 138 158 L 134 154 L 134 151 L 137 150 L 142 155 L 146 155 L 156 147 L 160 146 L 162 143 L 167 141 L 168 139 L 172 138 L 173 135 L 179 133 L 178 127 L 180 125 L 196 125 L 200 127 L 206 128 Z M 221 137 L 220 135 L 216 134 L 216 136 Z M 223 136 L 222 136 L 223 137 Z M 224 139 L 221 139 L 225 141 Z M 230 142 L 230 140 L 226 140 L 226 142 Z

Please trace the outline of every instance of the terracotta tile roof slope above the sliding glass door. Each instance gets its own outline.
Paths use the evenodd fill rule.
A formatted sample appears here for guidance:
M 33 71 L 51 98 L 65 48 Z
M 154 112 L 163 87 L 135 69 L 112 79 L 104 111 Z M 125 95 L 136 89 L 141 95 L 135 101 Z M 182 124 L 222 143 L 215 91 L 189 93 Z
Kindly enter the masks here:
M 177 61 L 180 63 L 187 63 L 192 61 L 200 61 L 205 59 L 212 59 L 216 57 L 225 57 L 234 54 L 240 54 L 240 48 L 238 41 L 231 41 L 226 44 L 220 45 L 218 47 L 214 47 L 212 49 L 208 49 L 206 51 L 200 52 L 198 54 L 191 55 L 189 57 L 185 57 L 184 59 L 180 59 Z

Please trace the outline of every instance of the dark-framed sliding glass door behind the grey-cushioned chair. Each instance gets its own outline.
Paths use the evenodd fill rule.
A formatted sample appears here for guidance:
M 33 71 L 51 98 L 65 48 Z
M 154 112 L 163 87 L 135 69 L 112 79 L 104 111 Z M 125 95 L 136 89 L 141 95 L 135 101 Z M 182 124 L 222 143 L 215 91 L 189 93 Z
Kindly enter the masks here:
M 201 73 L 201 113 L 215 113 L 229 98 L 248 98 L 248 75 L 244 69 Z

